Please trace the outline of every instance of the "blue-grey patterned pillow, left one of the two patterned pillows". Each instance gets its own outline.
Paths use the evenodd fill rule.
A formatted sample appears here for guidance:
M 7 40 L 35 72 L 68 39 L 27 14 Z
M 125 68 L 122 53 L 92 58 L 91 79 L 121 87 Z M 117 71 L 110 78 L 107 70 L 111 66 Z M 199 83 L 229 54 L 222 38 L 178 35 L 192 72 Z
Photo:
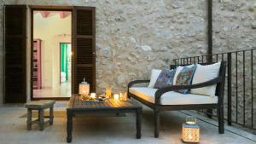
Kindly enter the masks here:
M 154 84 L 154 89 L 160 89 L 160 88 L 172 86 L 175 72 L 176 72 L 176 69 L 170 70 L 168 68 L 160 72 L 160 75 Z

